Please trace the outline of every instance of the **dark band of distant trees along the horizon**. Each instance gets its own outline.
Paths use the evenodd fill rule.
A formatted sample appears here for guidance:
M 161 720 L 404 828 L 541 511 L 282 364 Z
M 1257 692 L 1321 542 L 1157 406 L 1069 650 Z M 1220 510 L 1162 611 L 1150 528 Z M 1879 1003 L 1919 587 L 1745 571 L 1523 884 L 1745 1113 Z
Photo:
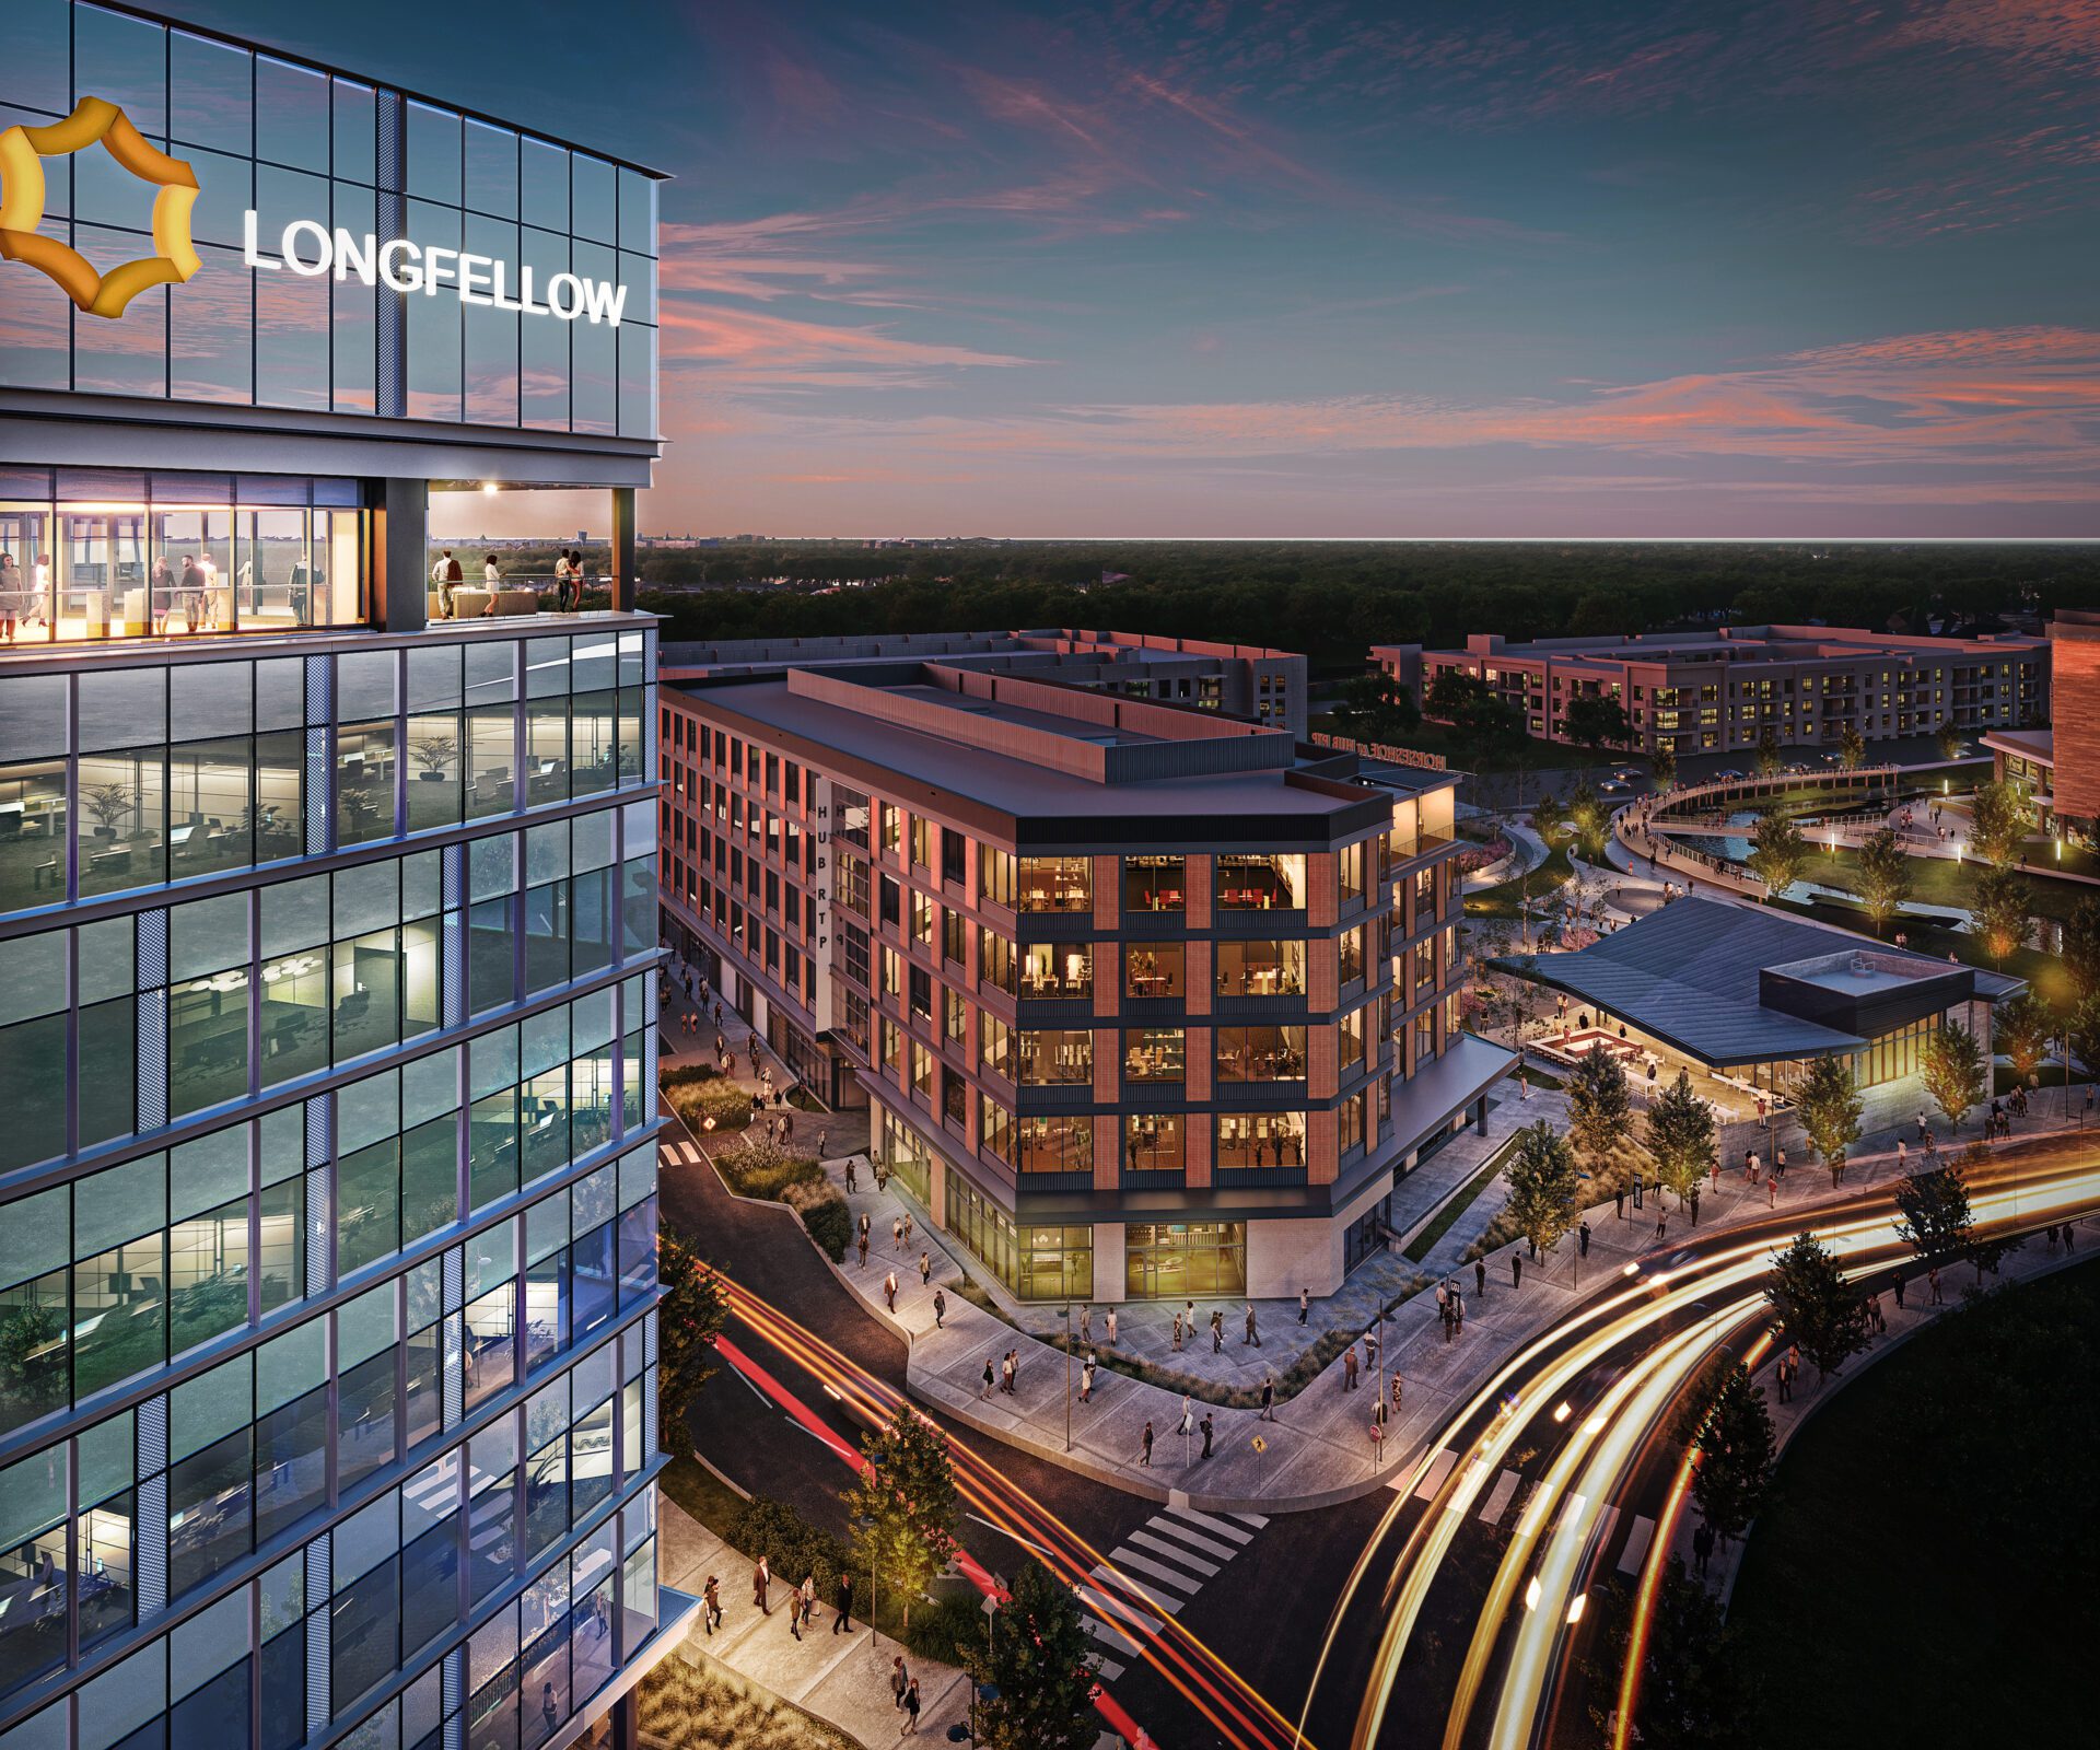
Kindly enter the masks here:
M 592 574 L 603 548 L 586 548 Z M 554 548 L 506 553 L 552 571 Z M 1470 632 L 1615 637 L 1823 620 L 1989 626 L 2014 609 L 2100 607 L 2100 553 L 2073 546 L 1567 546 L 1518 542 L 724 542 L 645 548 L 643 605 L 666 641 L 1115 626 L 1361 662 L 1373 643 Z M 1126 574 L 1102 584 L 1102 571 Z M 825 595 L 823 590 L 834 592 Z

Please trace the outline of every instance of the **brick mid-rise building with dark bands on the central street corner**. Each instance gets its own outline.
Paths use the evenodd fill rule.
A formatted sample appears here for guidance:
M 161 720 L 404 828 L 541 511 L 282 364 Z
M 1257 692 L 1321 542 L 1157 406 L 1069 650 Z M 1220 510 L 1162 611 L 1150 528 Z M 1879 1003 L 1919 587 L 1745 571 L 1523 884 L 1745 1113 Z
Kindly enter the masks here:
M 1092 653 L 750 666 L 664 718 L 670 931 L 1021 1298 L 1327 1294 L 1508 1069 L 1457 1025 L 1443 773 Z

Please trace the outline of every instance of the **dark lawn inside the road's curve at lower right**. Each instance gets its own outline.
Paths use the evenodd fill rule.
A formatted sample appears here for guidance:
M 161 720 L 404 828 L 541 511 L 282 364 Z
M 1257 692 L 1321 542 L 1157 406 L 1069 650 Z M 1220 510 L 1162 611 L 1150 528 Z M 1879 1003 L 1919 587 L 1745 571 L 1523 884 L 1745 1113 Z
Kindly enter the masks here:
M 1747 1742 L 2090 1742 L 2096 1445 L 2096 1265 L 1993 1294 L 1835 1389 L 1728 1609 L 1756 1662 Z

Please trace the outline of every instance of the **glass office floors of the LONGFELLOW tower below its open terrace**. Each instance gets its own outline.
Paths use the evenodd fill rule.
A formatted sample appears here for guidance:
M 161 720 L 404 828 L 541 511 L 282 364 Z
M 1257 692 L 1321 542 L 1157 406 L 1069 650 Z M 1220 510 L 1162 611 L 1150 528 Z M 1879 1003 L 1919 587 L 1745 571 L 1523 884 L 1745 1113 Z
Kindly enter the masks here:
M 653 639 L 0 658 L 6 1750 L 533 1750 L 655 1637 Z

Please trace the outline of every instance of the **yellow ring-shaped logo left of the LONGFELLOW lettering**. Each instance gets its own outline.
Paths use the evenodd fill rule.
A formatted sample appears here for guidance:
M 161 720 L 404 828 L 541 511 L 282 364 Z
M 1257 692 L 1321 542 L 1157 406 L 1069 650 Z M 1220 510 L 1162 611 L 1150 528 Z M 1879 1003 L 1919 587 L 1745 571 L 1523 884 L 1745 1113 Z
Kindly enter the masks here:
M 153 248 L 158 254 L 97 273 L 80 250 L 38 235 L 44 223 L 44 160 L 84 151 L 97 141 L 145 183 L 153 195 Z M 204 263 L 189 237 L 189 210 L 197 204 L 197 172 L 181 158 L 147 143 L 130 118 L 101 97 L 84 97 L 74 113 L 46 128 L 0 132 L 0 256 L 48 273 L 88 315 L 124 315 L 149 286 L 178 286 Z

